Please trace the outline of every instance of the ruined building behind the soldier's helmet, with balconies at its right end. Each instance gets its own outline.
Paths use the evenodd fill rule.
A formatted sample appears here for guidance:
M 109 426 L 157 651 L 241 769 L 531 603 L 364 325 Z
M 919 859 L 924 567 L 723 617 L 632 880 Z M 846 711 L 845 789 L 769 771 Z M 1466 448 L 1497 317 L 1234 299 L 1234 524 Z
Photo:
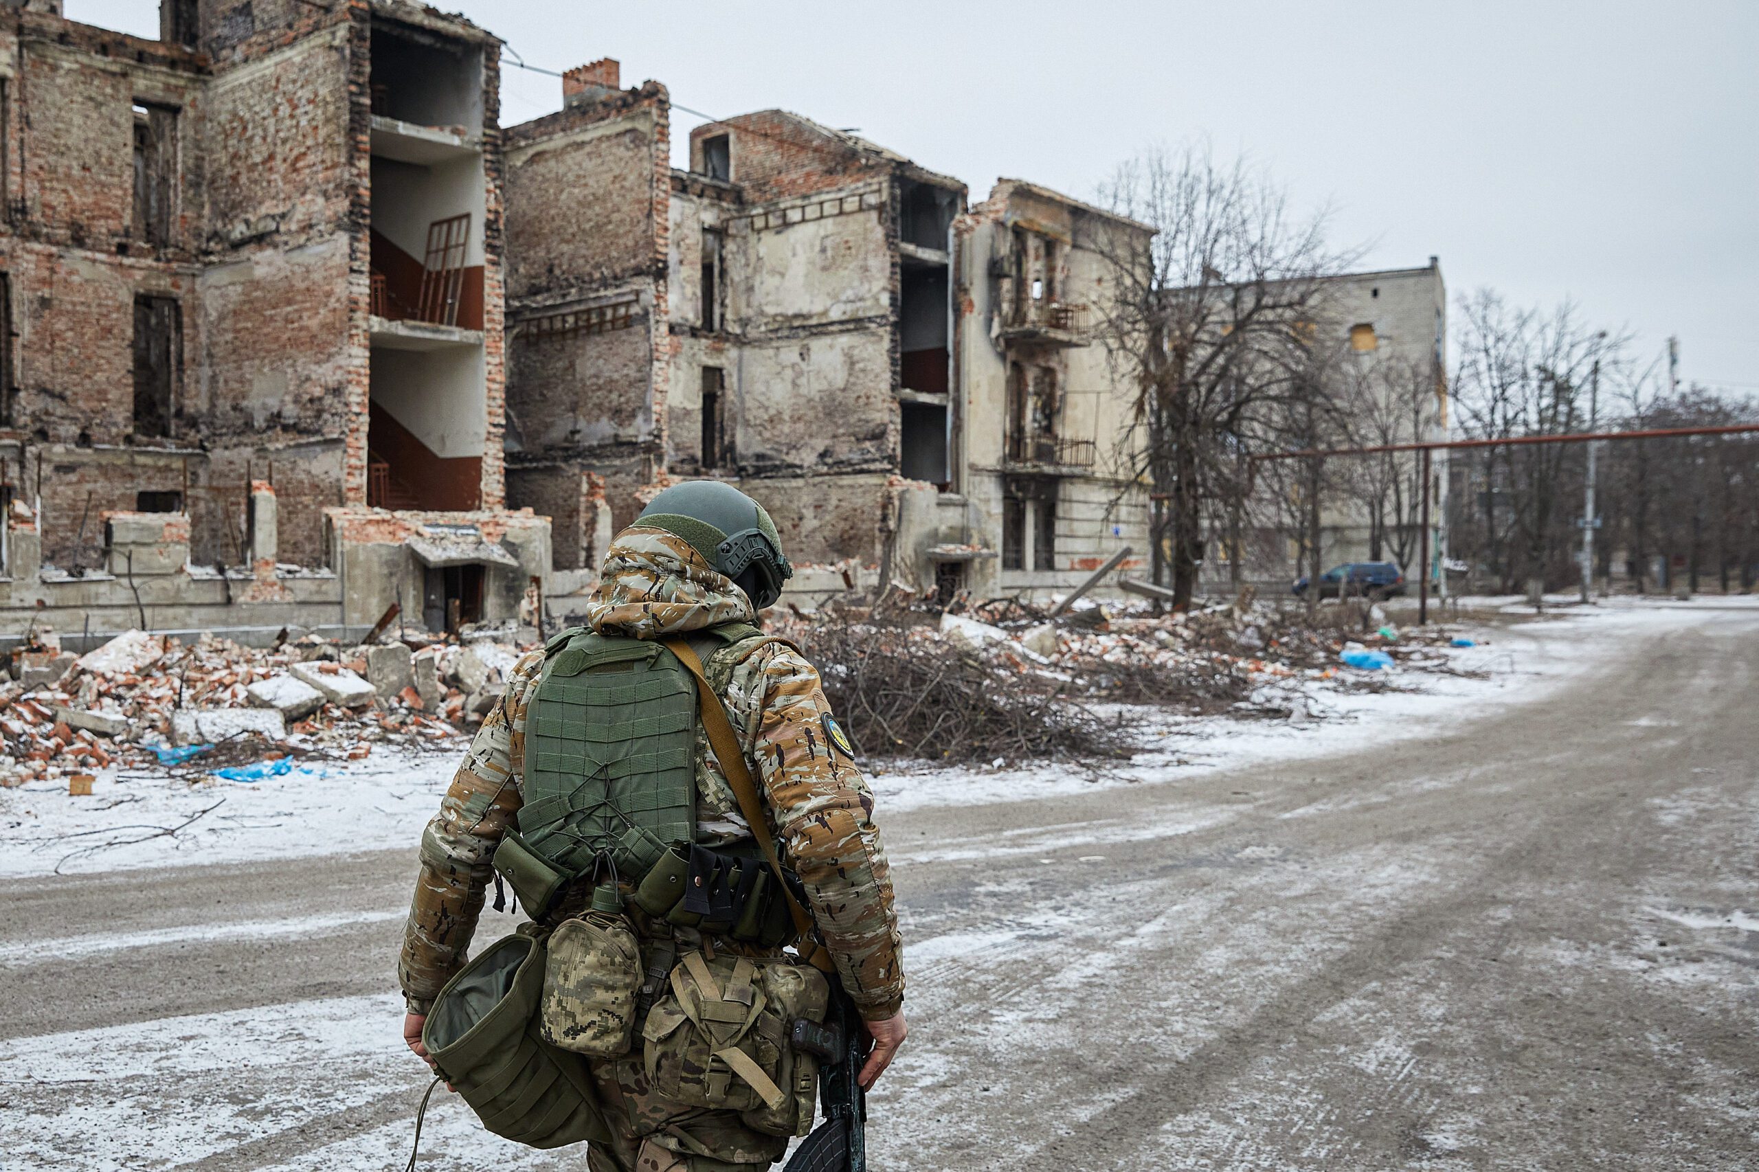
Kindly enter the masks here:
M 697 127 L 677 171 L 665 86 L 603 60 L 563 92 L 507 132 L 508 502 L 554 519 L 559 609 L 672 477 L 762 500 L 797 595 L 1050 590 L 1145 547 L 1084 301 L 1085 234 L 1124 222 L 1018 181 L 967 213 L 785 111 Z

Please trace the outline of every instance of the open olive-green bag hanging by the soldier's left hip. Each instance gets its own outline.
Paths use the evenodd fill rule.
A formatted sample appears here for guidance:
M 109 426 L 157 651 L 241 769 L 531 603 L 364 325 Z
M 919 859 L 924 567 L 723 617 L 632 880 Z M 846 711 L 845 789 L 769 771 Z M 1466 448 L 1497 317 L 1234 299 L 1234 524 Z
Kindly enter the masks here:
M 531 1147 L 610 1142 L 586 1063 L 544 1040 L 544 934 L 531 924 L 489 945 L 447 982 L 422 1045 L 482 1126 Z

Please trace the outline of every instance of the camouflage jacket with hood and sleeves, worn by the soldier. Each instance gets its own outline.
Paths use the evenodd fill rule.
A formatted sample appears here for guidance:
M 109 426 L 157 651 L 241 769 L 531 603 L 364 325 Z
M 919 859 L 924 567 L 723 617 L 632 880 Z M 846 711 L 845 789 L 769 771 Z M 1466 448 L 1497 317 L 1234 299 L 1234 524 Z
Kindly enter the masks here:
M 719 623 L 753 623 L 756 616 L 744 591 L 684 540 L 663 530 L 630 528 L 605 556 L 588 621 L 603 634 L 663 639 Z M 542 667 L 542 651 L 514 667 L 507 692 L 482 722 L 440 813 L 422 834 L 420 878 L 398 964 L 410 1012 L 426 1014 L 464 964 L 493 875 L 489 861 L 521 806 L 526 706 Z M 892 871 L 867 780 L 825 748 L 827 704 L 818 672 L 793 648 L 765 642 L 734 663 L 721 699 L 746 764 L 760 780 L 776 845 L 806 887 L 844 987 L 865 1017 L 890 1017 L 904 1001 Z M 697 762 L 698 836 L 748 838 L 702 730 Z

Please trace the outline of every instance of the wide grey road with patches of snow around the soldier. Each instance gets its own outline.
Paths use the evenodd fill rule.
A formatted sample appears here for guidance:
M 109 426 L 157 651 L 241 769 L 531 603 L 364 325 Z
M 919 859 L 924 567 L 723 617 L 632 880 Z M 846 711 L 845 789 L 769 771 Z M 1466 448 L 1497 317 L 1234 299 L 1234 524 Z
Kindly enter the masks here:
M 1518 686 L 1247 727 L 1138 783 L 883 778 L 913 1035 L 872 1165 L 1752 1167 L 1759 609 L 1733 602 L 1499 634 Z M 241 834 L 74 876 L 9 846 L 0 1167 L 403 1165 L 413 832 L 237 862 Z M 422 1151 L 584 1167 L 457 1102 Z

